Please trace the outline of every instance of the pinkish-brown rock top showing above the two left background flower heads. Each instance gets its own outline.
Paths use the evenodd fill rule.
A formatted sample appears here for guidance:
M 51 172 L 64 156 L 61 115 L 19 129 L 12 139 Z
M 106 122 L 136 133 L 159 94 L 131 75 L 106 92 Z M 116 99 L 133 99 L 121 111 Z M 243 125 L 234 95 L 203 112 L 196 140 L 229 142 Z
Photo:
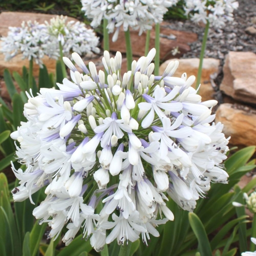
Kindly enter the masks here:
M 19 27 L 22 21 L 38 21 L 39 23 L 44 23 L 45 20 L 49 22 L 52 17 L 56 15 L 34 13 L 34 12 L 2 12 L 0 14 L 0 36 L 6 36 L 8 33 L 9 26 Z M 75 20 L 75 18 L 68 17 L 68 21 Z

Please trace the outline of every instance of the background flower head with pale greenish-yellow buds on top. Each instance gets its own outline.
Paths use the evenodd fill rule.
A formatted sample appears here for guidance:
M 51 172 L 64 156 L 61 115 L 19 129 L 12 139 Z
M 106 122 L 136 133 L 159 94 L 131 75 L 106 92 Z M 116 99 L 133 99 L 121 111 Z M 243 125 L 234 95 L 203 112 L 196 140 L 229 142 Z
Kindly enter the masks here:
M 74 20 L 67 21 L 67 16 L 57 16 L 52 18 L 50 22 L 45 22 L 50 41 L 53 44 L 61 43 L 65 56 L 71 56 L 72 52 L 82 55 L 88 52 L 99 53 L 99 38 L 88 29 L 84 23 Z

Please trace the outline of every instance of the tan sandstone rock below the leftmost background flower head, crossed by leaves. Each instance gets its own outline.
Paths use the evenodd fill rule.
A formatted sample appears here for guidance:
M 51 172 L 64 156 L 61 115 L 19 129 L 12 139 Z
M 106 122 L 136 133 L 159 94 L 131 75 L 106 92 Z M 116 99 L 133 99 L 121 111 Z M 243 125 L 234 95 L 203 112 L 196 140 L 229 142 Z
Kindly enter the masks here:
M 43 63 L 47 66 L 48 73 L 55 74 L 55 66 L 56 61 L 54 59 L 50 59 L 45 56 L 43 59 Z M 9 61 L 4 60 L 4 55 L 0 54 L 0 76 L 3 76 L 4 70 L 7 68 L 9 69 L 10 73 L 12 74 L 13 71 L 17 71 L 20 75 L 22 74 L 23 66 L 29 68 L 29 61 L 27 59 L 22 59 L 21 55 L 17 55 Z M 33 75 L 39 75 L 39 66 L 34 63 L 33 66 Z

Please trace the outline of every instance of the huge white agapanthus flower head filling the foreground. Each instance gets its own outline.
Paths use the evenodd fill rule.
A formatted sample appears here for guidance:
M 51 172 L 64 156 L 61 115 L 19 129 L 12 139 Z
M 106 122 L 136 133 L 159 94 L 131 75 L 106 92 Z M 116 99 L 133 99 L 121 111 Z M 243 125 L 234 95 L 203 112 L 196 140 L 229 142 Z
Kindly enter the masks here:
M 121 53 L 110 58 L 105 51 L 107 77 L 73 53 L 85 74 L 64 58 L 73 81 L 64 79 L 60 90 L 28 94 L 28 121 L 11 135 L 27 169 L 12 166 L 20 180 L 12 193 L 15 201 L 32 201 L 46 186 L 47 197 L 33 214 L 52 228 L 48 238 L 67 225 L 66 244 L 81 228 L 97 251 L 140 234 L 147 243 L 159 236 L 155 227 L 174 219 L 167 194 L 193 211 L 211 182 L 227 183 L 221 162 L 228 139 L 223 125 L 212 123 L 217 102 L 201 102 L 191 87 L 195 76 L 172 77 L 178 61 L 170 62 L 163 76 L 152 75 L 155 52 L 133 61 L 121 76 Z M 99 202 L 103 208 L 96 213 Z

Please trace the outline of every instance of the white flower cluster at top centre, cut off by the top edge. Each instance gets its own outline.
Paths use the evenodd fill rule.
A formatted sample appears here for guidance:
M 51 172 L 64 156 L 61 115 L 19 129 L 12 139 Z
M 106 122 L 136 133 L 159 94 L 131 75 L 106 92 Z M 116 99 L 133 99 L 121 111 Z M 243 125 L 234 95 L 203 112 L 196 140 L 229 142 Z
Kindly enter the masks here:
M 153 23 L 161 23 L 163 15 L 168 11 L 168 7 L 176 4 L 177 0 L 81 0 L 82 11 L 92 19 L 91 26 L 97 27 L 102 19 L 108 20 L 108 32 L 112 33 L 113 41 L 117 40 L 119 29 L 123 26 L 124 31 L 129 27 L 140 29 L 139 35 L 143 31 L 151 29 Z

